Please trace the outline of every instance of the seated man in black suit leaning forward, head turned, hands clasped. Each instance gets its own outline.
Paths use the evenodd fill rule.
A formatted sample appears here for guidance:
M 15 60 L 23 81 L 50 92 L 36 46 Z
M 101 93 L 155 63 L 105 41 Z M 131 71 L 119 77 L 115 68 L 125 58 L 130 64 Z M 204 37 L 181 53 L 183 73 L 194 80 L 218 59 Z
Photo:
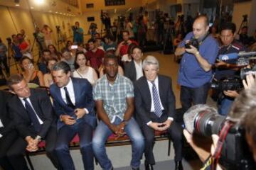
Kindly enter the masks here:
M 16 170 L 28 169 L 23 154 L 26 150 L 35 152 L 39 142 L 46 140 L 46 154 L 53 165 L 60 169 L 54 152 L 57 127 L 47 91 L 29 89 L 20 74 L 11 76 L 7 84 L 15 94 L 7 105 L 20 135 L 7 152 L 11 165 Z

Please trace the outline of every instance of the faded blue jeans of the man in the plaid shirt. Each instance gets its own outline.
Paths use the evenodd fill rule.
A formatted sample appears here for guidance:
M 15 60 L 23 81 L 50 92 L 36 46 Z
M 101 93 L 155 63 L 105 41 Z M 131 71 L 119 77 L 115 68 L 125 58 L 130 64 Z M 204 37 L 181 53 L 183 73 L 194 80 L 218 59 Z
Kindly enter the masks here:
M 119 118 L 115 118 L 114 125 L 119 125 L 122 120 Z M 142 154 L 144 152 L 144 137 L 142 135 L 142 131 L 139 128 L 139 125 L 131 118 L 127 125 L 124 127 L 124 132 L 127 133 L 130 140 L 132 141 L 132 161 L 131 166 L 132 168 L 138 168 L 140 165 L 140 159 L 142 158 Z M 95 130 L 95 134 L 92 138 L 92 149 L 97 158 L 100 166 L 104 170 L 112 169 L 112 163 L 110 159 L 107 157 L 106 149 L 105 149 L 105 142 L 107 137 L 112 134 L 112 130 L 107 127 L 105 123 L 100 121 L 99 125 Z

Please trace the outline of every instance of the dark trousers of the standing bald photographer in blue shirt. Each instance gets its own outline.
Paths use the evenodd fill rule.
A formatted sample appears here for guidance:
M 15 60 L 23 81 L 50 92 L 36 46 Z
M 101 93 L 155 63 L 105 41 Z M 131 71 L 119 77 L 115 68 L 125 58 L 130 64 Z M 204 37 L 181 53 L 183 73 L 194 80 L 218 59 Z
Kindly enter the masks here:
M 204 84 L 198 88 L 181 86 L 181 106 L 183 112 L 188 111 L 188 108 L 192 106 L 192 103 L 193 105 L 205 104 L 209 89 L 209 83 Z

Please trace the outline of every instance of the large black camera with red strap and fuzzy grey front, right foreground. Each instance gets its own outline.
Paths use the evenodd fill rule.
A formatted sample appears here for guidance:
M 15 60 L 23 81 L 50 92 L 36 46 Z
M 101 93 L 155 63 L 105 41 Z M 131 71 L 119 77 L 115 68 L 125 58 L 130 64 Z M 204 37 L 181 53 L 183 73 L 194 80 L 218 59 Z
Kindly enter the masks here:
M 256 169 L 250 147 L 245 140 L 245 130 L 238 123 L 219 115 L 215 108 L 199 104 L 184 113 L 186 130 L 191 134 L 210 137 L 219 135 L 223 141 L 218 162 L 225 169 Z M 220 145 L 220 142 L 218 142 Z

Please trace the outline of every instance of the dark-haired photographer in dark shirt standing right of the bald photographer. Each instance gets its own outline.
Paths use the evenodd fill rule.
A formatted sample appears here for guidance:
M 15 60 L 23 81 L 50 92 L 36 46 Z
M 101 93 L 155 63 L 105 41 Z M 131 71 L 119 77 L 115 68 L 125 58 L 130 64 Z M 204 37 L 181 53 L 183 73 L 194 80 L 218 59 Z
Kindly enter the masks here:
M 218 52 L 218 55 L 227 55 L 230 56 L 233 53 L 239 53 L 245 51 L 246 48 L 240 42 L 235 40 L 235 23 L 223 23 L 220 27 L 220 40 L 222 46 Z M 236 59 L 227 60 L 226 62 L 220 61 L 215 64 L 215 76 L 214 79 L 221 81 L 223 79 L 233 79 L 235 75 L 240 74 L 240 70 L 237 68 L 232 68 L 232 64 L 235 64 Z M 233 103 L 235 97 L 237 97 L 238 91 L 234 90 L 224 90 L 215 91 L 215 96 L 218 96 L 218 113 L 220 115 L 228 115 L 230 111 L 230 106 Z

